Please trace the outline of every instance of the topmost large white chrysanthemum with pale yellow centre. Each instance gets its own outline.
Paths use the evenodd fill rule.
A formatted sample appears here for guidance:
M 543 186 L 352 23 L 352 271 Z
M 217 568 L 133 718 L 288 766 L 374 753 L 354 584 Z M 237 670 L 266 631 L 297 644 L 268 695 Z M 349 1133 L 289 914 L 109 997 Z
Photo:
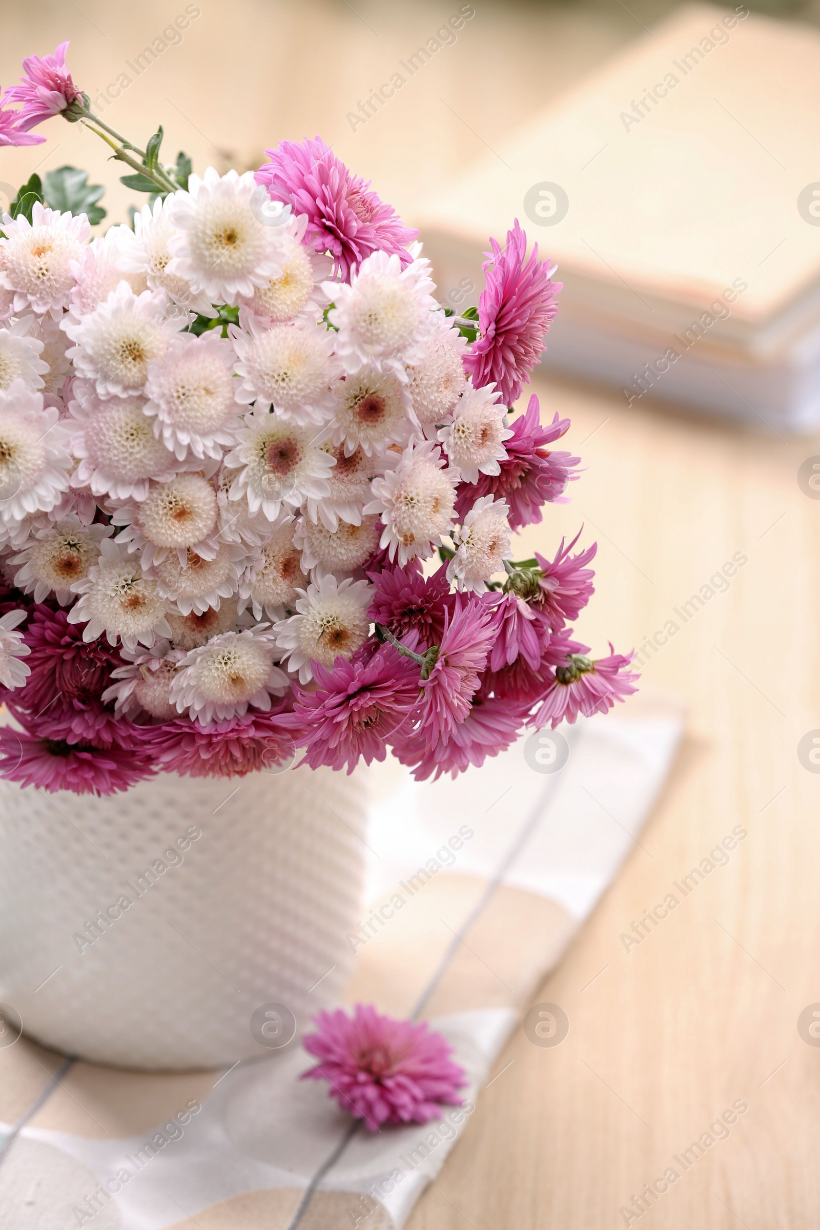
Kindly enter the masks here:
M 278 235 L 290 213 L 282 212 L 280 225 L 266 225 L 257 214 L 268 200 L 252 171 L 220 176 L 209 166 L 202 180 L 192 175 L 188 191 L 171 199 L 177 232 L 168 239 L 170 273 L 189 282 L 194 294 L 232 305 L 279 277 Z

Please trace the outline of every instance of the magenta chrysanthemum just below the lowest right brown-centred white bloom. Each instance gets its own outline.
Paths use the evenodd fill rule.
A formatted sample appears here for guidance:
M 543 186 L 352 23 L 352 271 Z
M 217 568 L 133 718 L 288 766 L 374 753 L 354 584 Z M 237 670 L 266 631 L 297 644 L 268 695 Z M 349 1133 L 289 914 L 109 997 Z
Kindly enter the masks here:
M 317 690 L 300 690 L 295 702 L 311 769 L 347 764 L 350 774 L 359 758 L 384 760 L 386 740 L 396 738 L 418 700 L 418 667 L 390 645 L 369 662 L 337 658 L 332 670 L 316 663 Z

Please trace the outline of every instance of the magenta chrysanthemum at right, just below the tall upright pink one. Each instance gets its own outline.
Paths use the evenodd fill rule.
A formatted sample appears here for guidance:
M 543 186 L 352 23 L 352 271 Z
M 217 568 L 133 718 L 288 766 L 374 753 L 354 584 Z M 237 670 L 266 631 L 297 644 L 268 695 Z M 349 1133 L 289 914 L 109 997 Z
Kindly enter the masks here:
M 504 442 L 507 459 L 497 475 L 479 474 L 475 483 L 459 488 L 456 512 L 463 517 L 481 496 L 495 496 L 509 504 L 510 529 L 541 520 L 541 506 L 561 503 L 567 483 L 577 478 L 573 467 L 580 461 L 569 453 L 552 453 L 547 445 L 569 429 L 568 418 L 553 418 L 542 427 L 538 399 L 530 397 L 526 413 L 513 423 L 513 434 Z

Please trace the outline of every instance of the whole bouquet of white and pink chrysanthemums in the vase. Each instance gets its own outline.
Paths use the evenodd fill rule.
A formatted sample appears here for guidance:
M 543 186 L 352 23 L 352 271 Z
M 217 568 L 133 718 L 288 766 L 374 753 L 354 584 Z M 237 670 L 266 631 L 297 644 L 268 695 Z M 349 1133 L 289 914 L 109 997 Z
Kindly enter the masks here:
M 102 189 L 63 167 L 2 218 L 0 772 L 108 793 L 390 747 L 438 776 L 633 691 L 568 627 L 595 546 L 513 561 L 578 465 L 535 396 L 509 418 L 561 289 L 518 223 L 452 316 L 318 138 L 199 178 L 100 119 L 66 46 L 0 144 L 61 113 L 151 198 L 90 241 Z

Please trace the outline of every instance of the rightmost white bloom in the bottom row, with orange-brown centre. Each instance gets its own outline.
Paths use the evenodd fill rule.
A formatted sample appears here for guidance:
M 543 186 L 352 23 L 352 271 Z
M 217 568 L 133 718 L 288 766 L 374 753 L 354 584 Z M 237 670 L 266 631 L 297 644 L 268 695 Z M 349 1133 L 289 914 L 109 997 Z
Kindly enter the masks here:
M 299 681 L 313 678 L 311 661 L 332 667 L 337 658 L 352 658 L 370 631 L 368 608 L 374 585 L 369 581 L 325 576 L 300 589 L 296 615 L 274 624 L 283 664 L 299 672 Z

